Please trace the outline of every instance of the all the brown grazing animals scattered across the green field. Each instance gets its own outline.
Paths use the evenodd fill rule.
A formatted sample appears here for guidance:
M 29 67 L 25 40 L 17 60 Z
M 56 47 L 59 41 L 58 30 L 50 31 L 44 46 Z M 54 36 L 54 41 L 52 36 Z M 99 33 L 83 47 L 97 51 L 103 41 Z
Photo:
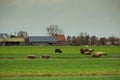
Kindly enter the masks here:
M 80 53 L 82 55 L 91 55 L 93 53 L 94 49 L 89 49 L 89 48 L 81 48 L 80 49 Z M 61 49 L 55 49 L 55 53 L 62 53 L 62 50 Z M 103 55 L 107 55 L 105 52 L 96 52 L 95 54 L 92 55 L 93 58 L 100 58 L 101 56 Z M 37 58 L 35 55 L 28 55 L 27 56 L 28 59 L 35 59 Z M 48 54 L 43 54 L 41 56 L 41 58 L 43 59 L 48 59 L 48 58 L 51 58 L 50 55 Z

